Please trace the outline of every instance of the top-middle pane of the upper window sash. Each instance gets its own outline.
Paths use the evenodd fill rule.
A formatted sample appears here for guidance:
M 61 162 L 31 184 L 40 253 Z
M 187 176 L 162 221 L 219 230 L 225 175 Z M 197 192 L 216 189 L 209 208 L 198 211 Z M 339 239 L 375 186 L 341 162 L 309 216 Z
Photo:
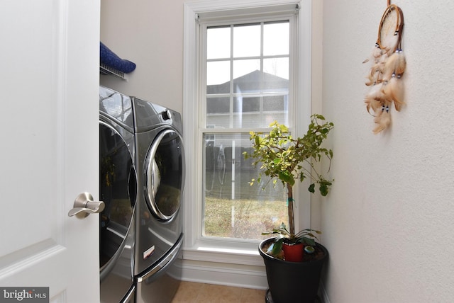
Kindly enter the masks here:
M 260 56 L 260 24 L 233 27 L 233 57 Z

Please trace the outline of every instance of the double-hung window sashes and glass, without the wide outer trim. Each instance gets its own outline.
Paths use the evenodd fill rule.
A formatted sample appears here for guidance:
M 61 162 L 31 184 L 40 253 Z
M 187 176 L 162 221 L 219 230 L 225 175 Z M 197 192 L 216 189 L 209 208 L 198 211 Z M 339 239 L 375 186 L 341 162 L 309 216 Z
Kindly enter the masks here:
M 243 151 L 250 130 L 289 125 L 290 19 L 233 21 L 201 23 L 202 236 L 261 239 L 288 221 L 286 195 L 280 184 L 262 190 L 267 180 L 249 185 L 260 167 Z

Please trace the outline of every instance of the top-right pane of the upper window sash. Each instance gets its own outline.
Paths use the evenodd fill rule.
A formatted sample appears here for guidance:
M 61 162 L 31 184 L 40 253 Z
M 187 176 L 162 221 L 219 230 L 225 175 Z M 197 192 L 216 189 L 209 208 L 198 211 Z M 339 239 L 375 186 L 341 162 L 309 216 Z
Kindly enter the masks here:
M 289 22 L 263 25 L 263 55 L 289 55 Z

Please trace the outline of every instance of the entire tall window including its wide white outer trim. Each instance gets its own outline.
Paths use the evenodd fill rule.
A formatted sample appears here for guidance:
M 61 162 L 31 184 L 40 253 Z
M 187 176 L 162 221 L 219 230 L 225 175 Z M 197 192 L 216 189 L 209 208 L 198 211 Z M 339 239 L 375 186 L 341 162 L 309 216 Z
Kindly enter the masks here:
M 185 25 L 185 37 L 196 40 L 185 49 L 187 248 L 249 247 L 256 253 L 261 231 L 287 220 L 284 188 L 251 187 L 259 168 L 243 151 L 251 148 L 250 130 L 267 132 L 274 120 L 297 130 L 294 117 L 309 112 L 310 91 L 297 89 L 308 87 L 298 69 L 299 2 L 264 0 L 255 8 L 248 2 L 206 10 L 194 3 L 185 12 L 197 19 L 193 28 Z M 304 105 L 296 102 L 300 98 Z

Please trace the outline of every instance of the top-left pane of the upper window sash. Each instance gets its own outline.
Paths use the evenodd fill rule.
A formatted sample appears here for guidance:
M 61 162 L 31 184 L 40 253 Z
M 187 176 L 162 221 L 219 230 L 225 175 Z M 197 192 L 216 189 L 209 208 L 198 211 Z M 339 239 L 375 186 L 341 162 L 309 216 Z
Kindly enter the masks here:
M 230 26 L 225 28 L 208 28 L 206 30 L 206 58 L 230 58 Z

